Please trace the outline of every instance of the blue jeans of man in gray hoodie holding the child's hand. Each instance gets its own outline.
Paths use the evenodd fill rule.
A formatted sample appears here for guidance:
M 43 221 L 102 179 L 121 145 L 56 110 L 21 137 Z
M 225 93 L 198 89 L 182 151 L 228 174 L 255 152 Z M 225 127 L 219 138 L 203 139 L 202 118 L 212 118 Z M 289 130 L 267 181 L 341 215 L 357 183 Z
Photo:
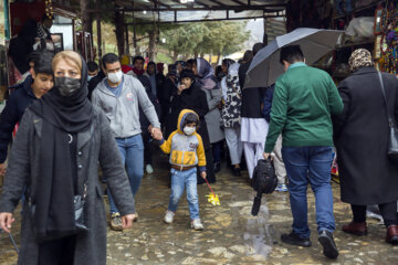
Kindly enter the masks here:
M 142 135 L 128 138 L 116 138 L 116 142 L 122 155 L 123 165 L 125 165 L 127 170 L 133 195 L 135 197 L 144 176 L 144 144 Z M 107 193 L 111 213 L 118 212 L 109 189 Z

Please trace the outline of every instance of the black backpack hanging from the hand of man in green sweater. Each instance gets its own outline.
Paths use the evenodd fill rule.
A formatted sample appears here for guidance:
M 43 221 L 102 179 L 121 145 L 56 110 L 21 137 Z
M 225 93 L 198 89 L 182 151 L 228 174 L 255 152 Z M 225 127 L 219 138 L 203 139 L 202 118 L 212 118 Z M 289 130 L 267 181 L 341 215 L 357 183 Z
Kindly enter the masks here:
M 262 194 L 272 193 L 277 186 L 277 178 L 275 174 L 275 168 L 271 160 L 271 157 L 266 160 L 261 159 L 253 171 L 253 189 L 258 192 L 254 198 L 252 214 L 255 216 L 260 211 Z

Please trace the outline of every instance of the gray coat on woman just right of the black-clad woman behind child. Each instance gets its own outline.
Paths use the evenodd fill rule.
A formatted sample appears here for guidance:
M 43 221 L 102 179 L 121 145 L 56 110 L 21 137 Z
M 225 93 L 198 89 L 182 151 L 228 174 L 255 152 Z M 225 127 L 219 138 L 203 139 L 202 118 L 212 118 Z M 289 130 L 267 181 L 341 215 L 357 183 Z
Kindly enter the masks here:
M 221 103 L 221 89 L 216 87 L 212 89 L 202 89 L 206 93 L 209 113 L 205 116 L 209 131 L 210 142 L 214 144 L 226 138 L 221 129 L 221 112 L 218 105 Z

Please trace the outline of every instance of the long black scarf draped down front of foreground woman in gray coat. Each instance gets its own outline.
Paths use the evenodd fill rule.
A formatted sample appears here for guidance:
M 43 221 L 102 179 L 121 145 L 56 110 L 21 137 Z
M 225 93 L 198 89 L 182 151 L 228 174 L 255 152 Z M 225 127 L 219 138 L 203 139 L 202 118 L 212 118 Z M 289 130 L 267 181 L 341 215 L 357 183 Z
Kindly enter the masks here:
M 72 96 L 61 96 L 55 86 L 30 107 L 43 118 L 40 184 L 32 198 L 39 242 L 76 233 L 73 200 L 80 190 L 74 187 L 77 182 L 77 134 L 88 130 L 94 119 L 93 106 L 87 99 L 88 74 L 83 59 L 81 75 L 82 87 Z

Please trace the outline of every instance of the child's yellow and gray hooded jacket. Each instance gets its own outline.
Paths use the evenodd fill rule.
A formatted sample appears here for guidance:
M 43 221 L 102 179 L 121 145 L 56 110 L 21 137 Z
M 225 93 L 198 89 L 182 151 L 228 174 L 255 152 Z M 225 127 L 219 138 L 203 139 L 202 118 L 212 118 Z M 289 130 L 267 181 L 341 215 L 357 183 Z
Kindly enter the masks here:
M 197 115 L 190 109 L 182 109 L 178 117 L 177 130 L 172 131 L 167 141 L 163 140 L 160 149 L 171 153 L 169 162 L 181 167 L 199 166 L 199 171 L 206 171 L 206 156 L 203 142 L 196 131 L 187 136 L 182 131 L 185 119 L 189 113 Z M 199 117 L 198 117 L 199 120 Z

